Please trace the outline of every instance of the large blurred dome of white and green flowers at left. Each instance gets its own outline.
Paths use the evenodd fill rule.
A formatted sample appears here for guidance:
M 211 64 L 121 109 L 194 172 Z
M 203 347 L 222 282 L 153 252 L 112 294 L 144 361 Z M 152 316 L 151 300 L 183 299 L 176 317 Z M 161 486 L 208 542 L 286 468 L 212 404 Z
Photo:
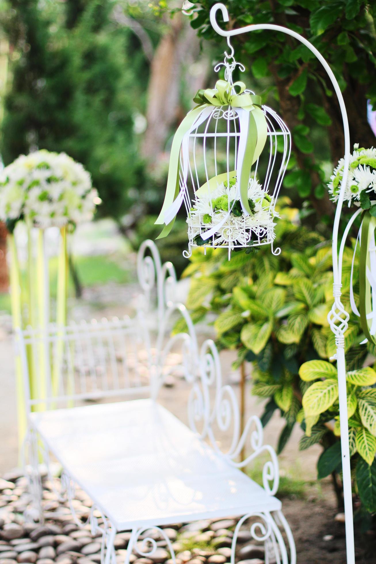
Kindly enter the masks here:
M 100 203 L 90 174 L 65 153 L 41 149 L 20 155 L 0 172 L 0 220 L 11 226 L 75 226 L 89 221 Z

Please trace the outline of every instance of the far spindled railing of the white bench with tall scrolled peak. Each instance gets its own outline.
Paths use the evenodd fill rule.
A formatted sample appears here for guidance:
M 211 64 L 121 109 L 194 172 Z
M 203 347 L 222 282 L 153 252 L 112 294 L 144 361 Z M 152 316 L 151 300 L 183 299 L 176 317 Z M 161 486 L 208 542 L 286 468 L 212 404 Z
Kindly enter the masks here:
M 137 272 L 140 293 L 133 318 L 16 331 L 28 411 L 150 395 L 153 333 L 160 326 L 176 276 L 171 263 L 161 264 L 150 240 L 139 249 Z

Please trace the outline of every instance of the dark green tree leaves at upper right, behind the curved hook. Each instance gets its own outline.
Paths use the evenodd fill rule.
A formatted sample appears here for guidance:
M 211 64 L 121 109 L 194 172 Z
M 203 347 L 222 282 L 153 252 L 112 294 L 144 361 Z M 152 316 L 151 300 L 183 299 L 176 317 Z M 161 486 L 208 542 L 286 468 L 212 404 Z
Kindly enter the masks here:
M 194 2 L 191 24 L 201 37 L 215 39 L 223 48 L 222 39 L 218 39 L 209 22 L 212 5 L 212 0 Z M 376 104 L 374 2 L 233 0 L 226 6 L 232 28 L 273 23 L 309 39 L 328 60 L 343 91 L 353 139 L 362 139 L 369 146 L 374 144 L 366 116 L 366 100 Z M 272 99 L 268 100 L 272 107 L 280 104 L 281 116 L 293 134 L 294 153 L 284 186 L 294 189 L 291 197 L 311 200 L 315 219 L 317 214 L 320 218 L 333 213 L 322 180 L 326 177 L 328 155 L 331 162 L 343 156 L 337 135 L 342 124 L 333 86 L 321 63 L 306 46 L 295 39 L 286 39 L 283 33 L 251 31 L 232 37 L 231 41 L 237 59 L 253 75 L 255 84 L 249 87 L 260 92 L 264 101 L 267 97 Z M 327 127 L 330 127 L 329 135 L 325 131 Z M 318 204 L 317 200 L 323 198 L 325 204 Z

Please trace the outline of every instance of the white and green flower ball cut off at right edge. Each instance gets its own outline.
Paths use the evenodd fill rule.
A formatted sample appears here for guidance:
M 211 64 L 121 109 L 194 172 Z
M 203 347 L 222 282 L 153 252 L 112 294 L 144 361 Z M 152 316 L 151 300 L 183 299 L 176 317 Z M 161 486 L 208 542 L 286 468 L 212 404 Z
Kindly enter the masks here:
M 341 158 L 328 183 L 330 199 L 334 202 L 338 200 L 343 167 L 344 158 Z M 348 201 L 350 206 L 352 202 L 369 200 L 369 192 L 376 192 L 376 148 L 359 148 L 359 143 L 356 143 L 350 156 L 344 201 Z

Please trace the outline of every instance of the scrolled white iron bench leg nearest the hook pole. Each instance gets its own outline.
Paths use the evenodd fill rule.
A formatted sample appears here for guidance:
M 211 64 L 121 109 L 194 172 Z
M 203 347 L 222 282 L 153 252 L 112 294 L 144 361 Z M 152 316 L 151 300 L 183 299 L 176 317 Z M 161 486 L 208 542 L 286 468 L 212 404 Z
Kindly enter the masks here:
M 277 519 L 280 525 L 285 529 L 287 540 L 289 541 L 290 547 L 290 559 L 287 556 L 286 544 L 284 537 L 281 534 L 280 528 L 278 527 L 275 519 L 271 513 L 247 513 L 242 517 L 234 531 L 234 536 L 231 545 L 231 564 L 235 564 L 235 551 L 238 532 L 240 528 L 248 519 L 253 519 L 250 526 L 250 533 L 254 540 L 259 541 L 264 544 L 265 549 L 265 564 L 275 562 L 276 564 L 296 564 L 296 551 L 293 535 L 291 534 L 290 527 L 282 514 L 282 512 L 276 512 Z

